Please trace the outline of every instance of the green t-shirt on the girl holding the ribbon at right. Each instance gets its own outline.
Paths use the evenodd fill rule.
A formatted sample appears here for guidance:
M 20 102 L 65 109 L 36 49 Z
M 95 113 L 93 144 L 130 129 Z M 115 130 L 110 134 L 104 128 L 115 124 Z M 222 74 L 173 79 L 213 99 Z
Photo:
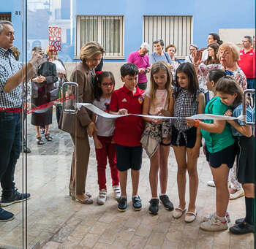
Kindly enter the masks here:
M 215 115 L 224 115 L 224 113 L 230 109 L 225 104 L 222 104 L 222 101 L 219 97 L 213 98 L 208 101 L 206 104 L 206 114 L 215 114 Z M 203 120 L 204 123 L 214 123 L 214 120 Z M 233 145 L 235 139 L 233 138 L 230 124 L 226 122 L 225 129 L 221 134 L 204 131 L 201 129 L 201 133 L 206 140 L 206 147 L 210 153 L 216 153 L 220 150 L 227 148 L 230 145 Z

